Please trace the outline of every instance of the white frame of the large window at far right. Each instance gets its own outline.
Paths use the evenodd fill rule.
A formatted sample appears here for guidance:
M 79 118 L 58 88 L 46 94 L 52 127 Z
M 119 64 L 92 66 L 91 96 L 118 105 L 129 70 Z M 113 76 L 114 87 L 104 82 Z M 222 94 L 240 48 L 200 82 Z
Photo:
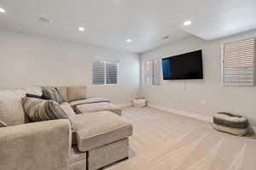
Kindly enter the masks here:
M 255 75 L 255 84 L 253 86 L 236 86 L 236 85 L 227 85 L 224 83 L 224 47 L 225 44 L 227 43 L 231 43 L 231 42 L 240 42 L 240 41 L 245 41 L 247 39 L 253 38 L 255 45 L 254 45 L 254 74 L 256 74 L 256 36 L 246 36 L 246 37 L 241 37 L 241 38 L 236 38 L 236 39 L 232 39 L 229 41 L 224 41 L 221 42 L 221 60 L 220 60 L 220 64 L 221 64 L 221 82 L 220 82 L 220 86 L 221 87 L 233 87 L 233 88 L 255 88 L 256 87 L 256 75 Z

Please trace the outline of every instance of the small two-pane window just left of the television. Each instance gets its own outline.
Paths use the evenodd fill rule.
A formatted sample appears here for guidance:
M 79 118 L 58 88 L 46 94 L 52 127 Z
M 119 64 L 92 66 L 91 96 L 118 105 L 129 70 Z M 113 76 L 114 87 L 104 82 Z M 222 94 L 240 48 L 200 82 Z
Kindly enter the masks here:
M 143 82 L 146 85 L 160 85 L 160 59 L 143 64 Z

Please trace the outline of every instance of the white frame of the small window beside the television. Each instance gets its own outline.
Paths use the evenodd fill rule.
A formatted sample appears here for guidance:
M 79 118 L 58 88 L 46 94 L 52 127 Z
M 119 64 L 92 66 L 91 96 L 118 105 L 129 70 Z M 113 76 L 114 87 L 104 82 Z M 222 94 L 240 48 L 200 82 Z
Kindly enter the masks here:
M 154 84 L 154 61 L 155 60 L 159 60 L 160 61 L 160 82 L 158 84 Z M 152 79 L 150 83 L 145 83 L 145 68 L 144 68 L 144 64 L 147 62 L 152 62 Z M 143 61 L 143 85 L 144 86 L 160 86 L 162 84 L 162 65 L 161 65 L 161 58 L 157 58 L 157 59 L 149 59 L 149 60 L 144 60 Z

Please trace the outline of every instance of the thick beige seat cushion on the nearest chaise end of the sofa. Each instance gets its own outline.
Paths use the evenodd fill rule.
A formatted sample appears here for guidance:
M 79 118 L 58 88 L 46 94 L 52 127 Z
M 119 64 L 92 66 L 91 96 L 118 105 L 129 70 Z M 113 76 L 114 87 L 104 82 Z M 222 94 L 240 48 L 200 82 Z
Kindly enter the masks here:
M 132 134 L 131 123 L 110 111 L 77 115 L 73 124 L 79 151 L 93 150 Z

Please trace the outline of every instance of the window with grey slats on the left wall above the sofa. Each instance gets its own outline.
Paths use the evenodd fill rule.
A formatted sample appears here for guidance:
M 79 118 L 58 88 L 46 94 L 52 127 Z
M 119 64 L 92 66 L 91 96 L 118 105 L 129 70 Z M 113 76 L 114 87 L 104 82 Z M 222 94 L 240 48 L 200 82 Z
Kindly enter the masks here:
M 117 84 L 119 61 L 95 58 L 93 61 L 92 82 L 96 85 Z

